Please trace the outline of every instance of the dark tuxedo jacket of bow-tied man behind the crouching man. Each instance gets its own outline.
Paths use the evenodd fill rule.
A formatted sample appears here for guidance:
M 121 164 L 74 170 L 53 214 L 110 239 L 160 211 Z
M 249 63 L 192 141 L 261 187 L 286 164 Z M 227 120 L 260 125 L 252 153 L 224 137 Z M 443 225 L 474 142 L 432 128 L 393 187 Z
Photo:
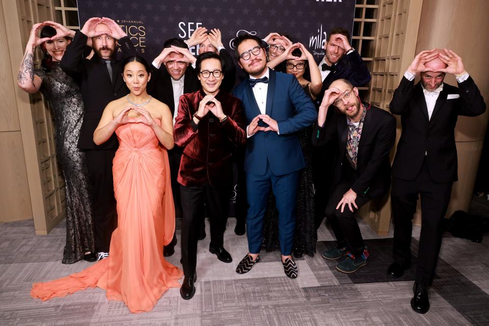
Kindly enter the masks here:
M 318 65 L 322 59 L 323 58 L 317 62 Z M 321 66 L 319 66 L 319 69 L 321 69 Z M 351 51 L 348 55 L 344 55 L 343 58 L 336 63 L 336 70 L 330 72 L 328 76 L 324 78 L 322 81 L 321 92 L 315 101 L 316 106 L 321 104 L 324 92 L 330 87 L 331 83 L 338 79 L 349 80 L 355 87 L 364 86 L 370 82 L 370 79 L 372 79 L 370 71 L 368 71 L 365 62 L 362 60 L 362 57 L 360 57 L 357 50 Z

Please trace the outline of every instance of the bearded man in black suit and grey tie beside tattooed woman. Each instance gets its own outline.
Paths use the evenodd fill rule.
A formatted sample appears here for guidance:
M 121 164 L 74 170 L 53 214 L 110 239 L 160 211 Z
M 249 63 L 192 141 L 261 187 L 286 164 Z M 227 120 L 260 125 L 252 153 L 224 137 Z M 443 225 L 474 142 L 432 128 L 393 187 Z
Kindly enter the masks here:
M 91 60 L 83 58 L 89 38 L 95 52 Z M 112 160 L 119 143 L 115 134 L 102 145 L 97 146 L 93 142 L 93 132 L 105 106 L 129 93 L 122 79 L 122 61 L 115 56 L 117 41 L 123 57 L 137 55 L 130 39 L 114 20 L 90 18 L 82 30 L 75 33 L 61 61 L 61 68 L 79 83 L 85 105 L 78 148 L 85 151 L 87 158 L 92 186 L 95 249 L 98 252 L 98 257 L 94 253 L 86 255 L 85 260 L 88 261 L 108 257 L 112 232 L 117 223 Z

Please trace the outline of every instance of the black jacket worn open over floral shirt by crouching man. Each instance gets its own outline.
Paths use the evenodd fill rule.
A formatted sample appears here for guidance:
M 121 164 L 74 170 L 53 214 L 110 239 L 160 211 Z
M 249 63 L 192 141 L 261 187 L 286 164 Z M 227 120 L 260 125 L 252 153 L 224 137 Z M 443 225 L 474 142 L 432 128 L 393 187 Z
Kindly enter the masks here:
M 314 124 L 312 145 L 323 146 L 328 142 L 338 144 L 338 158 L 335 162 L 333 185 L 341 181 L 343 162 L 346 154 L 348 125 L 346 116 L 333 110 L 331 118 L 322 127 Z M 362 135 L 357 157 L 357 180 L 351 189 L 357 194 L 370 198 L 384 196 L 391 184 L 389 153 L 396 140 L 396 119 L 381 108 L 370 106 L 363 122 Z

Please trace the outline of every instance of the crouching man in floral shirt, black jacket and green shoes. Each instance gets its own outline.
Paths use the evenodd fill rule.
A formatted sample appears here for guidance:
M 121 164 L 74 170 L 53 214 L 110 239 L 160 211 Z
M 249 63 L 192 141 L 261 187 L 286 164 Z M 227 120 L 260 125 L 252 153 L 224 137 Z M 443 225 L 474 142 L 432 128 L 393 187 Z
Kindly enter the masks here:
M 332 104 L 336 110 L 328 114 Z M 337 246 L 322 256 L 330 260 L 347 256 L 336 266 L 343 273 L 353 273 L 367 263 L 369 253 L 355 213 L 370 199 L 382 198 L 389 191 L 389 153 L 395 138 L 396 119 L 381 108 L 362 103 L 358 89 L 348 80 L 335 80 L 324 93 L 312 144 L 331 142 L 339 154 L 325 210 Z

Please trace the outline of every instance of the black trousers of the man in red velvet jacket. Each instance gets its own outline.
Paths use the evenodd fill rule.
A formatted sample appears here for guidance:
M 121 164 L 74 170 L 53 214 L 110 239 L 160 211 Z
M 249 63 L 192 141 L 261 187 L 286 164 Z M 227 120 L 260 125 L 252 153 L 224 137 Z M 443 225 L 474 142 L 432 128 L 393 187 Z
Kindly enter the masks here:
M 210 248 L 219 248 L 224 243 L 224 226 L 229 209 L 229 191 L 216 189 L 206 184 L 202 187 L 180 185 L 182 202 L 182 264 L 183 274 L 193 276 L 197 264 L 197 241 L 204 211 L 204 202 L 210 222 Z

